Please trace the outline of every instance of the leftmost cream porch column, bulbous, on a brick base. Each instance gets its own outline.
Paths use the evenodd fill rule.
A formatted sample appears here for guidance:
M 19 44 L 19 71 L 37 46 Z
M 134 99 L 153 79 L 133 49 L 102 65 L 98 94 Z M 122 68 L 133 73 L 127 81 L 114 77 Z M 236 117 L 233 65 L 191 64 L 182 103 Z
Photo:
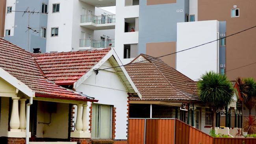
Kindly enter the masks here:
M 11 120 L 10 127 L 11 129 L 19 129 L 20 127 L 20 119 L 19 119 L 19 97 L 11 98 L 13 100 L 13 107 L 11 110 Z

